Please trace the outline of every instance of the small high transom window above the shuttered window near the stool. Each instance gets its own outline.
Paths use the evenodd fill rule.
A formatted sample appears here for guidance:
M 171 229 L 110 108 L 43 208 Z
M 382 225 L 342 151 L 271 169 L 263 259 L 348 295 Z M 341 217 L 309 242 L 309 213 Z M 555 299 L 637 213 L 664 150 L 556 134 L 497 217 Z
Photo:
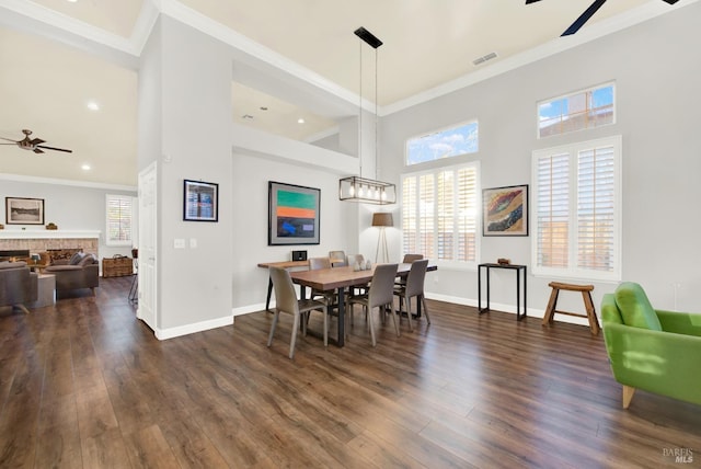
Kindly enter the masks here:
M 538 138 L 613 124 L 613 84 L 538 103 Z

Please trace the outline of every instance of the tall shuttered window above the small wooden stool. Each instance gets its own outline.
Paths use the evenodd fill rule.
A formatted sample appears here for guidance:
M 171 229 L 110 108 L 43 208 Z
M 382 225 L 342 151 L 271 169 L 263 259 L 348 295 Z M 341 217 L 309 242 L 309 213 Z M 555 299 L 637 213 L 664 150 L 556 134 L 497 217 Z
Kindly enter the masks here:
M 537 150 L 536 275 L 618 281 L 621 137 Z

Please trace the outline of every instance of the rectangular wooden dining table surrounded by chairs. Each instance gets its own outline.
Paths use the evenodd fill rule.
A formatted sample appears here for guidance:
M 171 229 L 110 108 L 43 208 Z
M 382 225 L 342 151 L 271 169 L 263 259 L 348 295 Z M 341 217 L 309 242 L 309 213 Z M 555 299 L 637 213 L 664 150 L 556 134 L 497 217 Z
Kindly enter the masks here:
M 399 264 L 397 270 L 398 277 L 405 277 L 409 275 L 409 271 L 412 268 L 412 264 Z M 436 265 L 429 265 L 428 271 L 435 271 Z M 313 271 L 297 271 L 290 272 L 292 282 L 300 286 L 300 296 L 306 298 L 306 288 L 313 288 L 320 291 L 333 291 L 336 290 L 338 298 L 338 333 L 337 338 L 333 341 L 340 347 L 345 345 L 345 289 L 348 287 L 366 285 L 372 279 L 375 274 L 375 266 L 369 271 L 355 271 L 353 266 L 345 267 L 332 267 L 332 268 L 317 268 Z M 421 301 L 418 301 L 421 305 Z

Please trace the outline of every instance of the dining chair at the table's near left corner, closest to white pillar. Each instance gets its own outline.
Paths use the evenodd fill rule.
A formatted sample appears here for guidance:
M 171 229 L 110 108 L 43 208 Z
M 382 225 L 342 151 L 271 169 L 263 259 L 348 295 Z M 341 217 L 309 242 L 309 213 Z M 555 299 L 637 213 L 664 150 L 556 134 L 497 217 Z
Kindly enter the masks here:
M 324 346 L 329 345 L 329 309 L 323 301 L 313 299 L 297 299 L 295 285 L 289 276 L 289 272 L 285 268 L 271 267 L 271 278 L 275 288 L 275 311 L 273 316 L 273 324 L 271 324 L 271 333 L 267 338 L 267 346 L 273 344 L 273 335 L 281 312 L 292 314 L 292 338 L 289 343 L 289 357 L 295 356 L 295 342 L 297 341 L 297 331 L 301 324 L 302 334 L 307 335 L 307 320 L 311 311 L 321 311 L 324 314 Z M 303 318 L 302 318 L 303 316 Z

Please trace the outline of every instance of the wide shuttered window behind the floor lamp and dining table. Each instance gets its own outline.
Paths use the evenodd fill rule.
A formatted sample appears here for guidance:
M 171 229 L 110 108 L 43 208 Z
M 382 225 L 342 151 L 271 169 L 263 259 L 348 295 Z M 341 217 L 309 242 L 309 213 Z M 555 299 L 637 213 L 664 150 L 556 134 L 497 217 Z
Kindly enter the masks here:
M 438 263 L 478 259 L 479 164 L 402 178 L 402 248 Z

